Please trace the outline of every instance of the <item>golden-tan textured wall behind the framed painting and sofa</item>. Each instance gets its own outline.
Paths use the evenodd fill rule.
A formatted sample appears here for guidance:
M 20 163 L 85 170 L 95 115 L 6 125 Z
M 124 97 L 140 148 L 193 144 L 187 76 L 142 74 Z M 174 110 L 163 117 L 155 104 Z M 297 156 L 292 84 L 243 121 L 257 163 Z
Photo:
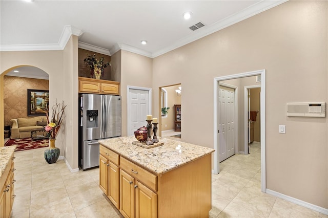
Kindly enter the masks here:
M 4 77 L 4 124 L 11 125 L 14 118 L 27 118 L 27 90 L 49 90 L 46 79 L 17 76 Z

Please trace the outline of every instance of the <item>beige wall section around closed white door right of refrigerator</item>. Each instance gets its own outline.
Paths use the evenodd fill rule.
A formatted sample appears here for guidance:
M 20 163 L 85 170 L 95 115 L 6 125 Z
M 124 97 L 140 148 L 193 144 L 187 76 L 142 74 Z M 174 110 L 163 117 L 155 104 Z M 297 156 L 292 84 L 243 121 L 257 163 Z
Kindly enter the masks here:
M 152 88 L 152 59 L 128 51 L 121 51 L 120 53 L 121 53 L 120 94 L 122 97 L 122 136 L 127 136 L 128 85 L 138 86 L 143 88 Z M 115 54 L 113 56 L 115 56 Z M 152 92 L 154 96 L 154 90 Z M 153 110 L 152 115 L 153 117 L 158 117 L 158 112 Z

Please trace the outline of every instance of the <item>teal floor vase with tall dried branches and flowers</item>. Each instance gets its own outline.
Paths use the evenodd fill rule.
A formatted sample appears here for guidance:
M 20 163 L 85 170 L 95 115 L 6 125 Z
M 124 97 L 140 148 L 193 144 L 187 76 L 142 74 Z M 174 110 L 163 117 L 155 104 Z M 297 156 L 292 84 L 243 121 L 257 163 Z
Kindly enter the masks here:
M 49 118 L 49 112 L 47 111 L 47 125 L 45 130 L 48 132 L 49 137 L 49 149 L 46 149 L 44 152 L 45 159 L 47 163 L 55 163 L 58 160 L 60 149 L 55 146 L 55 140 L 57 134 L 60 130 L 61 124 L 65 119 L 65 108 L 67 105 L 63 103 L 57 103 L 52 106 L 52 118 Z

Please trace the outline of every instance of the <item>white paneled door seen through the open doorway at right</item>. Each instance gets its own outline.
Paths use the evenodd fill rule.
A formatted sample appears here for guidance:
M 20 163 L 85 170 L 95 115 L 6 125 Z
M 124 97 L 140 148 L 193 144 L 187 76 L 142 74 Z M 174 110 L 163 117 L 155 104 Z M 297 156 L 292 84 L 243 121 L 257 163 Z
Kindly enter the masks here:
M 220 86 L 218 114 L 219 162 L 235 154 L 235 90 Z

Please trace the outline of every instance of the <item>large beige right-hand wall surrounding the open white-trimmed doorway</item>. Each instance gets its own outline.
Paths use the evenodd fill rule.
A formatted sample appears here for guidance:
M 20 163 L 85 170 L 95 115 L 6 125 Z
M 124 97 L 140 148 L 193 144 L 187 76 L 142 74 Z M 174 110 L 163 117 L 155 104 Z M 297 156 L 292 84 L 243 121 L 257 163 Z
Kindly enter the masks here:
M 328 208 L 327 118 L 285 112 L 287 102 L 328 100 L 326 1 L 286 2 L 154 58 L 153 102 L 157 87 L 181 83 L 183 116 L 193 117 L 183 120 L 182 140 L 213 147 L 213 78 L 261 69 L 267 188 Z M 199 111 L 206 116 L 193 116 Z M 278 134 L 279 124 L 286 134 Z

